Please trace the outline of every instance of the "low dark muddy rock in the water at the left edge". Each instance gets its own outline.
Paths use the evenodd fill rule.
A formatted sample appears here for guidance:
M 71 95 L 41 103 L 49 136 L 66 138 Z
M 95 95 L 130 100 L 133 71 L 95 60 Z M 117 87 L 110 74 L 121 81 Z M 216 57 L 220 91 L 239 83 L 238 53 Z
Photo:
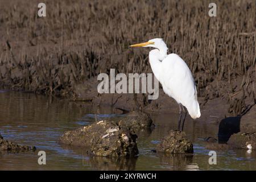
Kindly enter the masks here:
M 35 151 L 35 146 L 22 146 L 16 144 L 14 142 L 9 142 L 8 140 L 3 139 L 0 134 L 0 152 L 6 151 L 11 153 L 18 153 L 18 152 L 27 152 L 27 151 Z

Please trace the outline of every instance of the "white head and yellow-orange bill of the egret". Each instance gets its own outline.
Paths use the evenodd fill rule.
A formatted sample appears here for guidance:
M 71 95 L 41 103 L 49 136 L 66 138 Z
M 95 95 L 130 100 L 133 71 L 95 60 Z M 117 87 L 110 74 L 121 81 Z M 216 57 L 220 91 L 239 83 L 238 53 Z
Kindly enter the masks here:
M 166 43 L 164 43 L 163 39 L 156 38 L 148 40 L 148 42 L 133 44 L 130 47 L 154 47 L 159 49 L 159 51 L 167 51 Z

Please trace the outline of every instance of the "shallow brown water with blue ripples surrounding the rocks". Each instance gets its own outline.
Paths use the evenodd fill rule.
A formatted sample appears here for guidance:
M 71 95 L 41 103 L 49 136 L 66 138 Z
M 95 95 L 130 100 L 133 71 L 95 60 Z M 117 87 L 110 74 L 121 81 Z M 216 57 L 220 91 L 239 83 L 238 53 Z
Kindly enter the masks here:
M 193 141 L 193 155 L 164 156 L 152 152 L 171 129 L 176 129 L 177 114 L 151 114 L 152 131 L 139 134 L 139 156 L 133 159 L 108 159 L 86 155 L 81 148 L 60 146 L 64 131 L 88 125 L 106 117 L 121 117 L 112 109 L 93 110 L 89 105 L 38 96 L 32 93 L 0 90 L 0 133 L 18 144 L 34 145 L 36 152 L 1 154 L 0 169 L 21 170 L 255 170 L 255 152 L 216 151 L 217 164 L 210 165 L 205 137 L 217 138 L 218 125 L 187 120 L 184 131 Z M 38 151 L 46 151 L 46 165 L 38 164 Z

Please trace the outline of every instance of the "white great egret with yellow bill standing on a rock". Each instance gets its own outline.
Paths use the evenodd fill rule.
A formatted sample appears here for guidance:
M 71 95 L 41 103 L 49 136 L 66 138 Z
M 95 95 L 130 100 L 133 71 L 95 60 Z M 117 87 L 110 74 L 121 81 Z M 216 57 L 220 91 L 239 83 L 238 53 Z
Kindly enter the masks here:
M 178 130 L 182 131 L 187 108 L 193 119 L 199 118 L 200 107 L 197 101 L 196 85 L 187 64 L 175 53 L 167 55 L 167 46 L 163 39 L 151 39 L 148 42 L 131 45 L 130 47 L 154 47 L 149 53 L 151 69 L 163 86 L 163 91 L 174 98 L 179 104 Z M 184 112 L 184 116 L 182 117 Z M 182 124 L 181 124 L 182 119 Z

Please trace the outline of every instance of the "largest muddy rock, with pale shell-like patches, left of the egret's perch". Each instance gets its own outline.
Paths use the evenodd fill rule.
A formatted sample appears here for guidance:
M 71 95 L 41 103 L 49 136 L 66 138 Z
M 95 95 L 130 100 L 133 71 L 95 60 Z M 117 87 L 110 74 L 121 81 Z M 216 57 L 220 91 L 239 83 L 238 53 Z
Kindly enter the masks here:
M 88 154 L 95 156 L 119 157 L 138 154 L 137 135 L 117 122 L 102 120 L 89 126 L 67 131 L 60 137 L 60 143 L 85 147 Z

